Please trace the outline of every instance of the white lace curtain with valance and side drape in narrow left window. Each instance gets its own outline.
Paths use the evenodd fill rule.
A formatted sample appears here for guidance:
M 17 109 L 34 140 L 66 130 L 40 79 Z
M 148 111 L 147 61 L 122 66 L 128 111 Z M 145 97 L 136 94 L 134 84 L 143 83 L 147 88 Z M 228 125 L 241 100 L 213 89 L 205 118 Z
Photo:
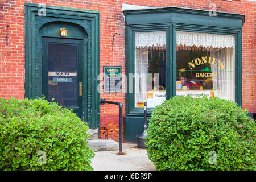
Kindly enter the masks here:
M 148 49 L 164 49 L 165 31 L 135 32 L 135 107 L 147 98 Z

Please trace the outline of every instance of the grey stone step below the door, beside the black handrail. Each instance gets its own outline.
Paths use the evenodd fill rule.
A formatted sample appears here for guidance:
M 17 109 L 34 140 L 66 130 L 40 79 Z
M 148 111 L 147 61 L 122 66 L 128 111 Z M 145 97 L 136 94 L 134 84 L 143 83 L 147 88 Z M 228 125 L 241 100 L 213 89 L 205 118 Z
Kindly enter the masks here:
M 110 139 L 94 139 L 88 140 L 88 147 L 92 148 L 94 152 L 119 150 L 119 143 Z

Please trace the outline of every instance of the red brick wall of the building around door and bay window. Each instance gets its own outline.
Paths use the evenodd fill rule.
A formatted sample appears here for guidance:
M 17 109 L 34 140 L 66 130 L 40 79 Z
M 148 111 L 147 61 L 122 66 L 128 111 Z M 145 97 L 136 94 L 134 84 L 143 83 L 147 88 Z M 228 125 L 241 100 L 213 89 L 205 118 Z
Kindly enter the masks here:
M 125 72 L 125 24 L 122 16 L 122 3 L 143 6 L 179 6 L 209 10 L 210 3 L 216 3 L 217 11 L 245 14 L 242 39 L 242 105 L 243 108 L 255 108 L 256 93 L 256 3 L 245 0 L 59 0 L 59 1 L 0 1 L 0 97 L 24 98 L 24 2 L 46 3 L 46 5 L 66 6 L 78 9 L 100 11 L 100 71 L 104 65 L 121 65 Z M 9 45 L 6 46 L 6 24 L 9 24 Z M 112 38 L 115 32 L 114 51 Z M 124 85 L 124 84 L 123 84 Z M 101 98 L 123 102 L 125 113 L 125 94 L 101 94 Z M 118 140 L 118 106 L 101 105 L 101 127 L 107 128 L 109 138 Z M 103 135 L 101 135 L 103 136 Z

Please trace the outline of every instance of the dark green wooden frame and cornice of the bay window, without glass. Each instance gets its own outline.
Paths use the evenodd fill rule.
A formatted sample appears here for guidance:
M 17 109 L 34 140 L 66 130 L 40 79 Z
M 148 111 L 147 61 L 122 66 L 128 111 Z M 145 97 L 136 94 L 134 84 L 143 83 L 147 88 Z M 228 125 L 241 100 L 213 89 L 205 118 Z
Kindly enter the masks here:
M 126 24 L 126 75 L 134 73 L 134 32 L 166 31 L 166 100 L 176 95 L 176 32 L 193 31 L 234 35 L 235 49 L 235 101 L 242 106 L 242 24 L 245 15 L 217 12 L 210 17 L 208 10 L 165 7 L 144 10 L 125 10 Z M 155 18 L 158 16 L 158 18 Z M 170 78 L 170 79 L 168 79 Z M 134 83 L 134 81 L 133 81 Z M 129 90 L 129 84 L 127 84 Z M 126 94 L 126 115 L 143 115 L 142 108 L 135 107 L 133 93 Z M 151 115 L 151 109 L 148 116 Z

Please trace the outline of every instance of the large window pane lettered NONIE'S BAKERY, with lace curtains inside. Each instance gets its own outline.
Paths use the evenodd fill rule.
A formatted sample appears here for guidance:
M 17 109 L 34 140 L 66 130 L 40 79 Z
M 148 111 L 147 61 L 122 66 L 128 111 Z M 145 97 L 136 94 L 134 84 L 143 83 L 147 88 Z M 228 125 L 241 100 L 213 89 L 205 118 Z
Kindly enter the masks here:
M 177 32 L 177 95 L 217 96 L 234 101 L 232 35 Z

